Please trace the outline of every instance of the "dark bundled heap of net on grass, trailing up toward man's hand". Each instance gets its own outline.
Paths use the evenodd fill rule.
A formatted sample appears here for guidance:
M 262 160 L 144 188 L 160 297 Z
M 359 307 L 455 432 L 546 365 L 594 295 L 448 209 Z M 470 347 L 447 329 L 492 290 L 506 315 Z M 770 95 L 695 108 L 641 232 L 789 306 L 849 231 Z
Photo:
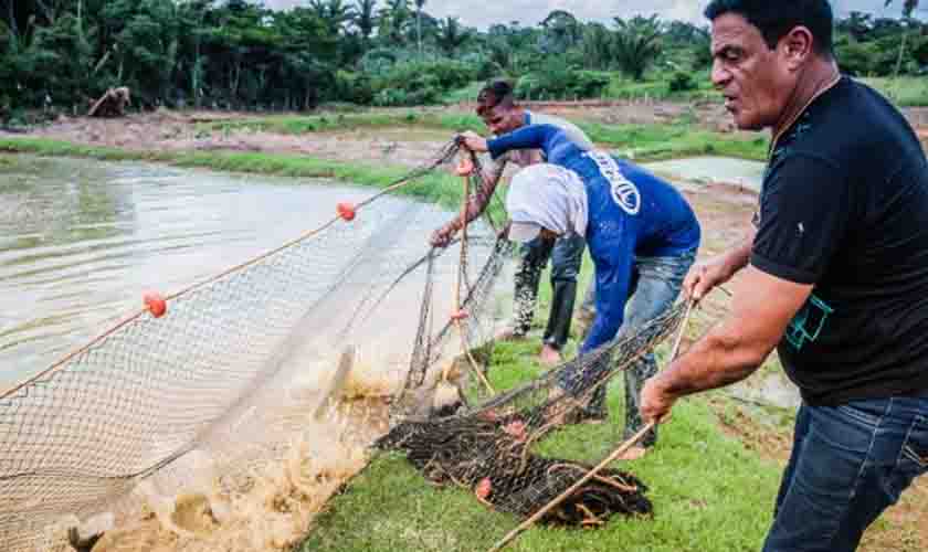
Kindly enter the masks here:
M 462 407 L 451 416 L 398 421 L 376 447 L 405 453 L 431 481 L 452 482 L 492 508 L 528 517 L 592 469 L 584 463 L 545 457 L 534 447 L 576 421 L 597 390 L 676 332 L 686 310 L 677 305 L 634 333 L 477 407 Z M 600 526 L 613 513 L 646 516 L 652 513 L 646 491 L 632 474 L 604 469 L 540 521 Z

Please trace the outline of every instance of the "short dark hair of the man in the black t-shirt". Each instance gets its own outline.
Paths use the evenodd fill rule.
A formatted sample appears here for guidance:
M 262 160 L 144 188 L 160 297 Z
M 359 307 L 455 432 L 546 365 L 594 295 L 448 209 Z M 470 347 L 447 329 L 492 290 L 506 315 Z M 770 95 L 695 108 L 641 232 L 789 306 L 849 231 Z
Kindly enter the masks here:
M 832 55 L 834 12 L 829 0 L 713 0 L 705 11 L 710 21 L 726 13 L 737 13 L 758 28 L 771 50 L 802 25 L 812 32 L 814 51 Z

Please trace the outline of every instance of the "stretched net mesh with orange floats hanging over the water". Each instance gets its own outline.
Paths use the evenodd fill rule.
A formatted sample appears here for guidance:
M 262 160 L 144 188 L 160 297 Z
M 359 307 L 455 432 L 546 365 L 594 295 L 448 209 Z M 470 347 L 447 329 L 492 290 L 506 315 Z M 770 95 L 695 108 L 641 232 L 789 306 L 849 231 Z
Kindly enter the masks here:
M 391 404 L 428 412 L 433 367 L 492 338 L 510 251 L 488 217 L 430 248 L 447 213 L 391 193 L 425 192 L 457 153 L 451 142 L 384 191 L 351 192 L 337 216 L 292 243 L 149 297 L 149 308 L 3 393 L 3 550 L 71 550 L 73 526 L 139 516 L 146 486 L 171 496 L 205 473 L 219 491 L 244 492 L 313 424 L 312 447 L 367 446 Z M 482 190 L 468 184 L 467 195 Z M 345 358 L 348 375 L 336 368 Z

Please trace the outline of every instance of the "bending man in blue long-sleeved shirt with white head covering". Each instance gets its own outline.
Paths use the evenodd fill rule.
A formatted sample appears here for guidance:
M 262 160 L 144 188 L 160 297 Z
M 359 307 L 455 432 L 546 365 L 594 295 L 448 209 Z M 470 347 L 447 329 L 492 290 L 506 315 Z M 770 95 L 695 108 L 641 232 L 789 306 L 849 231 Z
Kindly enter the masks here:
M 464 140 L 494 158 L 537 148 L 551 163 L 529 167 L 513 179 L 509 237 L 586 237 L 595 265 L 597 315 L 580 354 L 608 343 L 620 328 L 632 331 L 673 304 L 695 259 L 700 232 L 689 204 L 671 184 L 609 153 L 583 151 L 551 125 L 531 125 L 489 141 L 467 132 Z M 625 371 L 628 436 L 642 427 L 640 391 L 656 371 L 653 354 Z M 570 379 L 568 374 L 565 380 Z M 652 433 L 642 444 L 648 447 L 655 439 Z M 643 453 L 637 448 L 631 456 Z

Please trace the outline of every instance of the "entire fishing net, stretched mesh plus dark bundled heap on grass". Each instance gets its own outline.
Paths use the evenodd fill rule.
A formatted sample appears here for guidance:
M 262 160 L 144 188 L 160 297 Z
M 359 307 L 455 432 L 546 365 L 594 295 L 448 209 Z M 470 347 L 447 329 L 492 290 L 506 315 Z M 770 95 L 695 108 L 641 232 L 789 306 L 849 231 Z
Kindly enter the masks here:
M 179 492 L 209 471 L 223 490 L 253 486 L 255 466 L 291 454 L 288 438 L 324 411 L 335 413 L 325 432 L 334 427 L 337 440 L 403 450 L 429 479 L 516 514 L 583 476 L 589 466 L 537 445 L 675 331 L 682 308 L 498 394 L 487 370 L 513 244 L 485 216 L 447 247 L 424 251 L 443 215 L 390 195 L 457 155 L 449 144 L 384 191 L 339 205 L 319 229 L 168 297 L 165 316 L 136 312 L 4 393 L 4 549 L 68 550 L 62 528 L 102 512 L 129 519 L 145 485 Z M 464 205 L 489 201 L 479 159 L 461 158 L 477 169 L 464 180 Z M 384 352 L 398 341 L 409 346 Z M 336 367 L 358 355 L 376 376 L 346 384 Z M 441 384 L 455 389 L 452 415 L 436 415 Z M 604 470 L 545 519 L 647 513 L 644 491 L 631 474 Z

